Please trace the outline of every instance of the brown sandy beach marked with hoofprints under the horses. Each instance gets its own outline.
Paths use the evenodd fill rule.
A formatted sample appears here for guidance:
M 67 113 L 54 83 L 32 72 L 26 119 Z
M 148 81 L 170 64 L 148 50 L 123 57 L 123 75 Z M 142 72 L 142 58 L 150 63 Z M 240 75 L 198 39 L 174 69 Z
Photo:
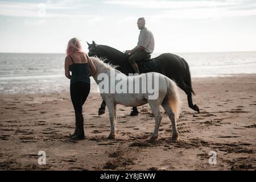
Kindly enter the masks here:
M 189 109 L 187 96 L 177 122 L 178 142 L 164 114 L 159 139 L 149 143 L 155 121 L 148 105 L 117 106 L 115 139 L 108 110 L 98 116 L 101 97 L 90 93 L 83 107 L 86 139 L 68 140 L 75 129 L 69 92 L 2 94 L 0 118 L 1 170 L 255 170 L 256 75 L 193 78 L 193 97 L 201 112 Z M 46 164 L 38 164 L 38 151 Z M 217 164 L 209 164 L 209 152 Z

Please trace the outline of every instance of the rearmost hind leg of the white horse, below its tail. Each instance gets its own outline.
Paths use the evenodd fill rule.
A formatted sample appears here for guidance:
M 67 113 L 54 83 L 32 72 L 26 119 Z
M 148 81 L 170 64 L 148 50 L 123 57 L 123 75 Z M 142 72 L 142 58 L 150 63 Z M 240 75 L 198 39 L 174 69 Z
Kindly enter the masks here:
M 175 120 L 175 114 L 171 109 L 171 106 L 169 105 L 168 101 L 164 101 L 162 103 L 162 106 L 164 108 L 164 110 L 166 111 L 168 118 L 171 121 L 171 126 L 172 126 L 172 140 L 176 141 L 177 139 L 179 139 L 179 133 L 177 131 L 177 126 L 176 126 L 176 120 Z

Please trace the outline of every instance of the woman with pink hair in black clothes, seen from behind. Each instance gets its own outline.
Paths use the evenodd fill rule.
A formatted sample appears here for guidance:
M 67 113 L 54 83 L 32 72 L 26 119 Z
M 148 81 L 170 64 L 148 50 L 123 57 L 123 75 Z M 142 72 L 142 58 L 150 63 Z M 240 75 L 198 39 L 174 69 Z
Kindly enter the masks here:
M 85 139 L 84 117 L 82 105 L 90 92 L 90 76 L 96 73 L 92 60 L 82 52 L 82 47 L 77 38 L 69 40 L 65 58 L 65 76 L 70 79 L 70 94 L 75 109 L 76 129 L 70 138 L 73 140 Z M 70 75 L 72 72 L 72 75 Z

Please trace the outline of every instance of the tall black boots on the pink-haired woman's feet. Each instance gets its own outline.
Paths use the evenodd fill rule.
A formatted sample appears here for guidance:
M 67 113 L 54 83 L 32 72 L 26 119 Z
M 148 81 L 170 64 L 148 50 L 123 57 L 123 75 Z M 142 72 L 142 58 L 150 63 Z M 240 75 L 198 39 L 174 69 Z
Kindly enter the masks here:
M 72 140 L 83 140 L 85 139 L 84 135 L 84 117 L 82 114 L 77 113 L 75 111 L 76 115 L 76 131 L 72 137 L 70 137 Z

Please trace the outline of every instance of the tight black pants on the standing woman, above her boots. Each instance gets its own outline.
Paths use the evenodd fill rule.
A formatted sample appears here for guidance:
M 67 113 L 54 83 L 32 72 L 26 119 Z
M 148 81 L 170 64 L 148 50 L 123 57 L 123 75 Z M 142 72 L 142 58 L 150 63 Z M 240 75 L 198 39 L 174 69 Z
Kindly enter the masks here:
M 82 105 L 90 92 L 90 84 L 84 81 L 77 81 L 70 85 L 70 94 L 73 107 L 77 113 L 82 114 Z

